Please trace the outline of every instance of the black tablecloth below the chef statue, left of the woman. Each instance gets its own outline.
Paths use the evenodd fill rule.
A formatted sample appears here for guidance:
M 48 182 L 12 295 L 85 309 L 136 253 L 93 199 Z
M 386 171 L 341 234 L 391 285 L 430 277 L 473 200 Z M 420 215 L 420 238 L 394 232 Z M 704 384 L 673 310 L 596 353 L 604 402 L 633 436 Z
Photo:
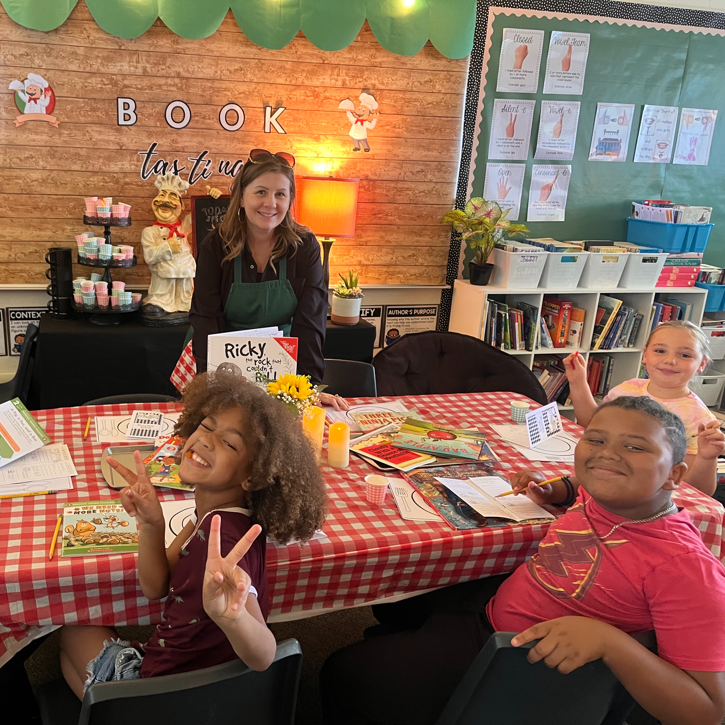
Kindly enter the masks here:
M 41 315 L 31 398 L 39 409 L 128 393 L 178 394 L 169 378 L 188 325 L 146 327 L 138 319 L 99 326 Z

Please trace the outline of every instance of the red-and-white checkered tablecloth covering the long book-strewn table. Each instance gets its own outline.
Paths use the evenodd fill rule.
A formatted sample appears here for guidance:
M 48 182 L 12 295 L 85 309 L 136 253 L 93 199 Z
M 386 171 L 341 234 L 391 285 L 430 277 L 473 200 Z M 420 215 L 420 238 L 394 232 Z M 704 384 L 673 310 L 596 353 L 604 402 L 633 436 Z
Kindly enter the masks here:
M 519 468 L 539 468 L 547 476 L 571 473 L 557 463 L 523 459 L 489 428 L 510 422 L 510 393 L 425 395 L 401 398 L 421 417 L 489 434 L 502 459 L 503 476 Z M 381 398 L 390 400 L 392 398 Z M 371 402 L 355 399 L 352 402 Z M 62 624 L 157 624 L 161 603 L 149 602 L 138 588 L 136 555 L 122 554 L 48 560 L 49 541 L 66 502 L 117 498 L 100 468 L 104 446 L 83 442 L 88 416 L 129 415 L 134 409 L 177 410 L 165 405 L 106 405 L 35 413 L 54 441 L 65 441 L 78 468 L 75 489 L 51 496 L 0 501 L 0 664 L 30 639 Z M 581 431 L 570 421 L 564 426 Z M 382 507 L 365 502 L 363 479 L 376 469 L 351 456 L 349 468 L 323 467 L 328 484 L 326 539 L 300 546 L 268 544 L 270 621 L 297 619 L 336 608 L 512 571 L 537 547 L 547 530 L 535 526 L 453 531 L 444 523 L 414 523 L 400 518 L 389 495 Z M 189 494 L 159 489 L 162 500 Z M 718 558 L 723 551 L 722 506 L 686 484 L 673 496 L 689 511 L 705 544 Z

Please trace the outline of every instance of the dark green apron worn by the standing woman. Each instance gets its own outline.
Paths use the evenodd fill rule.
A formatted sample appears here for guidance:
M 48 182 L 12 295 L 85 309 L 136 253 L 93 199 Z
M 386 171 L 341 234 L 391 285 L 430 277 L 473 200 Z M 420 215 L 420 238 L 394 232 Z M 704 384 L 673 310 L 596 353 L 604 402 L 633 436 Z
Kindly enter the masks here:
M 297 295 L 287 279 L 287 258 L 281 258 L 278 264 L 279 279 L 242 282 L 241 252 L 234 258 L 234 283 L 224 307 L 228 331 L 277 326 L 284 336 L 289 336 L 292 316 L 297 310 Z M 190 327 L 185 346 L 193 336 L 194 330 Z

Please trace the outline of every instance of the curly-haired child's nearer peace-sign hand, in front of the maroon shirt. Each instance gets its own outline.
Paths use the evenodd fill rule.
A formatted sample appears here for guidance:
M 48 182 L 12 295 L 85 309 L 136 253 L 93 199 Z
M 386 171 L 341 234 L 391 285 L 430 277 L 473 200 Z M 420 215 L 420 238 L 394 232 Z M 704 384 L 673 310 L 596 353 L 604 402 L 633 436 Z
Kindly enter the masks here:
M 222 558 L 220 531 L 222 518 L 216 514 L 212 518 L 209 532 L 209 547 L 207 552 L 207 568 L 204 571 L 204 585 L 202 600 L 204 611 L 216 624 L 231 624 L 247 614 L 245 605 L 252 587 L 249 574 L 237 563 L 249 551 L 262 531 L 256 523 L 247 534 L 244 534 L 236 543 L 231 552 Z

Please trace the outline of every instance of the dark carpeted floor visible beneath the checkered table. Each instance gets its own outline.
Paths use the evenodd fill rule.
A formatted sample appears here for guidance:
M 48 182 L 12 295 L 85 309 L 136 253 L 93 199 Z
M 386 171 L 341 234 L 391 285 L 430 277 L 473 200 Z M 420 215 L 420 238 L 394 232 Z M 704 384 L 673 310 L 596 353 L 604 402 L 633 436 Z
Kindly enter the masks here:
M 283 624 L 273 624 L 270 629 L 278 642 L 294 637 L 302 645 L 302 679 L 297 697 L 295 725 L 320 725 L 320 693 L 318 676 L 328 655 L 339 647 L 351 645 L 363 638 L 365 627 L 377 624 L 370 607 L 345 609 L 309 619 L 299 619 Z M 146 642 L 152 627 L 119 627 L 125 639 Z M 44 682 L 62 677 L 58 660 L 58 634 L 54 632 L 30 655 L 25 663 L 33 689 Z

